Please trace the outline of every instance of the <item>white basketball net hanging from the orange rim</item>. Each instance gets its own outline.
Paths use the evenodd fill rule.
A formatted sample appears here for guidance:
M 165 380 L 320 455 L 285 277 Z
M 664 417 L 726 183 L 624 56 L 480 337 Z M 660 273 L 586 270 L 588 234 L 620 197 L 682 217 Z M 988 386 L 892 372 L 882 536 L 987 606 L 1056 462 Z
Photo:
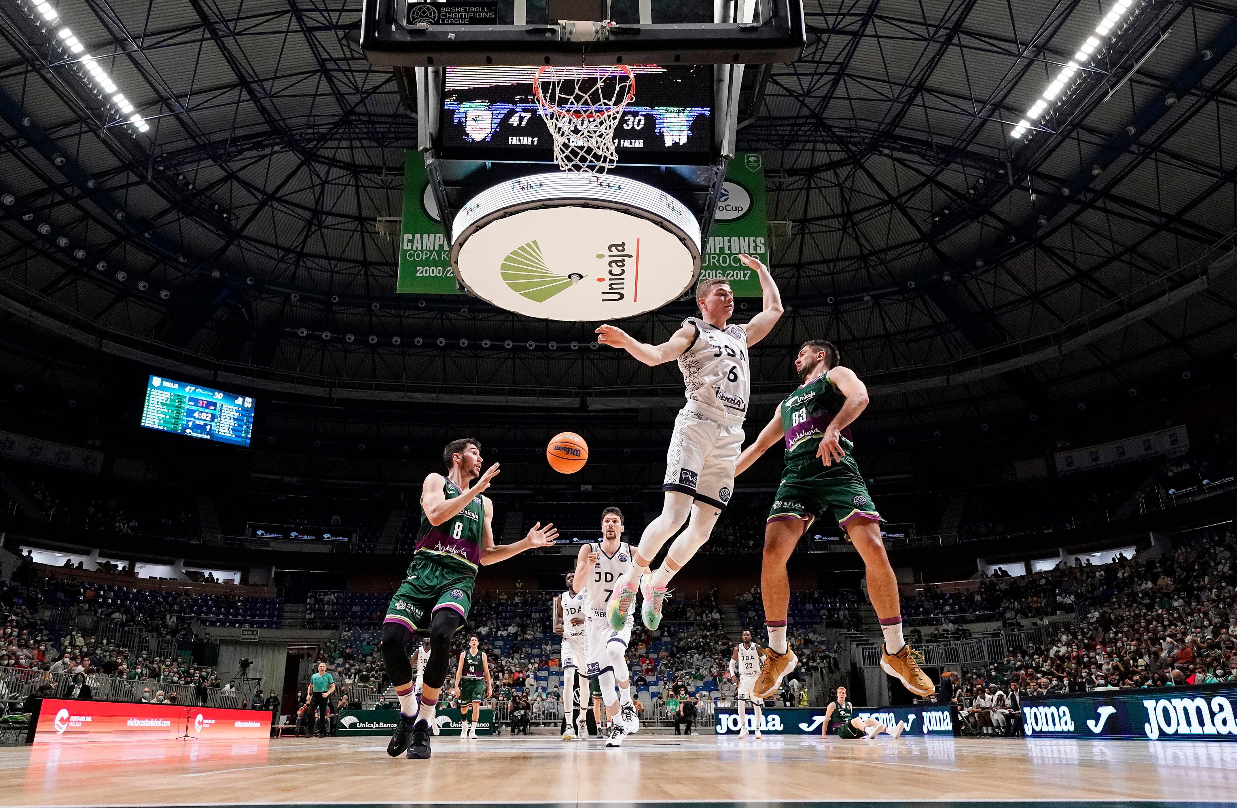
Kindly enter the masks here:
M 631 68 L 546 64 L 533 79 L 533 95 L 554 137 L 559 168 L 604 174 L 618 163 L 615 129 L 636 95 Z

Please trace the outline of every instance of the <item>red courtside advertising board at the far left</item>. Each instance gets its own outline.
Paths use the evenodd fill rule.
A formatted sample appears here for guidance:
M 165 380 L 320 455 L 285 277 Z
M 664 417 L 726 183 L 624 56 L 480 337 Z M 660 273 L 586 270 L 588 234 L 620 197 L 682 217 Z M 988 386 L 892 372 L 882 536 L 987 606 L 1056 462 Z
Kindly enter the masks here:
M 35 744 L 157 741 L 186 734 L 200 741 L 270 737 L 271 714 L 215 707 L 43 699 Z

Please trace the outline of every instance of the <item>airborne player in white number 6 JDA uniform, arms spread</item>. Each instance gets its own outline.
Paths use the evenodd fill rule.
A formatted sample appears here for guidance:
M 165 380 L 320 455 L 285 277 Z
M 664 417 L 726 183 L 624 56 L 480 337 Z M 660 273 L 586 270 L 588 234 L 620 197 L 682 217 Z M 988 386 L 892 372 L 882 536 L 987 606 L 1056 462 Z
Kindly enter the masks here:
M 782 297 L 768 269 L 750 255 L 740 259 L 756 271 L 764 293 L 762 311 L 747 323 L 729 324 L 735 294 L 727 281 L 710 278 L 696 285 L 700 317 L 683 320 L 683 327 L 661 345 L 642 343 L 614 325 L 597 329 L 599 343 L 622 348 L 646 365 L 678 360 L 688 400 L 670 436 L 662 515 L 644 528 L 635 564 L 610 598 L 607 612 L 615 629 L 631 615 L 637 590 L 643 599 L 641 620 L 649 630 L 657 629 L 670 578 L 709 541 L 735 490 L 735 463 L 743 445 L 751 387 L 748 349 L 782 317 Z M 653 558 L 689 516 L 688 528 L 670 544 L 664 563 L 649 574 Z

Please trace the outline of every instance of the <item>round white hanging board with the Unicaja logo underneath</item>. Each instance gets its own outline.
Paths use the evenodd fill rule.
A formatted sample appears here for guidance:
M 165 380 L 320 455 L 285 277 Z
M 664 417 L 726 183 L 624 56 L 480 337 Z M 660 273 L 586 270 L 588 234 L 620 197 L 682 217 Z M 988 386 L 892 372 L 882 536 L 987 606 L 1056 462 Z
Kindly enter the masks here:
M 543 319 L 600 322 L 679 298 L 700 272 L 700 225 L 664 191 L 614 176 L 546 173 L 474 197 L 452 225 L 455 277 Z

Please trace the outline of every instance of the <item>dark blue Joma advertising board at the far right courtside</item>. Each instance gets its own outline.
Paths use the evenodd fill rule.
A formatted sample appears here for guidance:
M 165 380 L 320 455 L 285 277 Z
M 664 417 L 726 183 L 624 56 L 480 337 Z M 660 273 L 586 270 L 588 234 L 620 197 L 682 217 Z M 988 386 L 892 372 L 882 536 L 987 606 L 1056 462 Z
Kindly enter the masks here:
M 1022 700 L 1027 737 L 1237 741 L 1231 682 Z

